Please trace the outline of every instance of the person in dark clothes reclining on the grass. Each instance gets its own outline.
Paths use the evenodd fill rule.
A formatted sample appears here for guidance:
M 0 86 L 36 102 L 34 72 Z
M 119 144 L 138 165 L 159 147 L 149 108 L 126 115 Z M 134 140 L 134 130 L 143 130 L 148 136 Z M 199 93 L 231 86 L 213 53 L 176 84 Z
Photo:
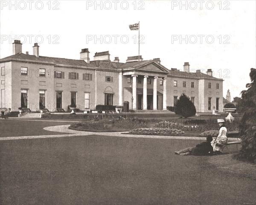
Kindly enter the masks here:
M 197 144 L 195 147 L 189 147 L 184 150 L 180 150 L 175 152 L 175 154 L 179 155 L 212 155 L 213 148 L 211 145 L 212 137 L 207 136 L 206 142 L 202 142 L 201 144 Z

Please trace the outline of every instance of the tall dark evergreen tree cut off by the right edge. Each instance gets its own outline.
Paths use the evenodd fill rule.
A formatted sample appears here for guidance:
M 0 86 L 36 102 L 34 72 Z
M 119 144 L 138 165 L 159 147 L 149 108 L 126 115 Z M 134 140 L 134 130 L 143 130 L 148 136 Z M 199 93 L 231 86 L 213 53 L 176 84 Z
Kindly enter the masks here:
M 256 69 L 250 69 L 251 83 L 241 92 L 241 111 L 244 113 L 239 128 L 241 150 L 239 157 L 256 163 Z

